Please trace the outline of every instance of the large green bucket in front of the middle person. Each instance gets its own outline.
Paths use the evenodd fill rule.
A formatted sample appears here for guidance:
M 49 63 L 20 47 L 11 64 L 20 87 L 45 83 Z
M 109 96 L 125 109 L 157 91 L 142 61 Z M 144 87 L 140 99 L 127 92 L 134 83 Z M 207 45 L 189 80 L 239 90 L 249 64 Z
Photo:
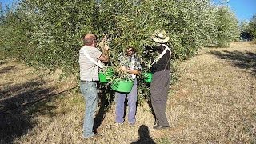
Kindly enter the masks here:
M 118 92 L 130 93 L 130 90 L 133 88 L 133 86 L 134 86 L 133 81 L 118 80 L 118 81 L 114 81 L 110 87 L 113 90 Z

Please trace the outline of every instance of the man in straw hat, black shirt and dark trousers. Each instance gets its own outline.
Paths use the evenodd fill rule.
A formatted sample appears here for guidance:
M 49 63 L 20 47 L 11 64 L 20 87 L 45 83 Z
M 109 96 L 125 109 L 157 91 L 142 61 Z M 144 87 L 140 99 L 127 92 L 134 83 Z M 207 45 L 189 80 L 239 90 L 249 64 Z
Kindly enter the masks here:
M 166 101 L 168 90 L 170 88 L 170 48 L 166 45 L 169 41 L 165 31 L 154 34 L 152 39 L 158 42 L 158 46 L 151 48 L 158 52 L 158 57 L 152 63 L 153 80 L 150 83 L 150 98 L 154 110 L 155 126 L 154 129 L 169 128 L 169 122 L 166 118 Z

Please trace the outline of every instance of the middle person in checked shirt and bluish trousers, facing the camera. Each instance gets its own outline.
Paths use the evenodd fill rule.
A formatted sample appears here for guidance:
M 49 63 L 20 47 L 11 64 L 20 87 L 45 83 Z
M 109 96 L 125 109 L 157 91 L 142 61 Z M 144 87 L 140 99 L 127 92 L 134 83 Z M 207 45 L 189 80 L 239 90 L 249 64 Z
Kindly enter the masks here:
M 130 79 L 134 80 L 134 86 L 130 93 L 120 93 L 116 92 L 116 109 L 115 109 L 115 122 L 117 125 L 122 125 L 125 117 L 125 100 L 127 97 L 128 100 L 128 122 L 130 126 L 135 126 L 135 114 L 136 114 L 136 105 L 137 105 L 137 78 L 136 75 L 140 74 L 142 70 L 141 61 L 136 56 L 134 48 L 128 47 L 126 49 L 126 54 L 119 57 L 120 61 L 120 70 L 122 72 L 128 73 Z

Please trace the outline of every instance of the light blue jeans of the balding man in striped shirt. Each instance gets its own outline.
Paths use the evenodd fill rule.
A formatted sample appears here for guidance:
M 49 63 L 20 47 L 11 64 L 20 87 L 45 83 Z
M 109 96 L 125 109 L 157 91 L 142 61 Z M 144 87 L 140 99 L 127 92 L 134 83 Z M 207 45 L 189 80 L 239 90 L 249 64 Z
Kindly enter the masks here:
M 94 136 L 93 126 L 97 107 L 97 83 L 80 82 L 80 89 L 86 101 L 86 112 L 84 116 L 82 131 L 84 138 Z

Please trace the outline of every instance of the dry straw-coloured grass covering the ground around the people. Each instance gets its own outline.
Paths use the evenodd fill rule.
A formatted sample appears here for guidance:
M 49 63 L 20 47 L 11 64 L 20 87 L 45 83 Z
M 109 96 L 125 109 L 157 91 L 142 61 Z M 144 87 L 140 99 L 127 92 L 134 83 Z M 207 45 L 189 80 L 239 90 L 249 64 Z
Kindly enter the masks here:
M 152 129 L 146 102 L 138 106 L 136 127 L 111 126 L 113 102 L 97 115 L 102 137 L 86 140 L 81 94 L 58 94 L 74 81 L 58 82 L 58 73 L 45 75 L 17 62 L 2 62 L 0 143 L 256 142 L 256 45 L 235 42 L 230 48 L 203 49 L 179 64 L 178 75 L 166 108 L 170 130 Z

